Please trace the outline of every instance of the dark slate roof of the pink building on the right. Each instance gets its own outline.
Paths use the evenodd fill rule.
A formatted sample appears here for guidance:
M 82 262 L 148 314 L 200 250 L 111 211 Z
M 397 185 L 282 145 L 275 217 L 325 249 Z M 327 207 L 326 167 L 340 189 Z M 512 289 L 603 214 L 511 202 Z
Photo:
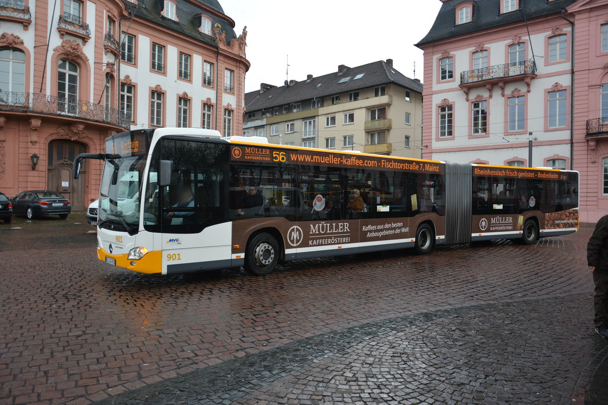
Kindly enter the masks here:
M 477 0 L 473 3 L 473 14 L 471 22 L 455 25 L 456 22 L 456 6 L 462 1 L 451 0 L 444 2 L 441 9 L 435 18 L 433 27 L 429 33 L 420 40 L 416 46 L 420 47 L 424 44 L 438 41 L 440 39 L 452 38 L 454 36 L 465 35 L 477 31 L 487 30 L 493 27 L 503 26 L 505 24 L 513 24 L 514 22 L 524 21 L 523 15 L 528 20 L 560 13 L 561 10 L 568 5 L 575 3 L 578 0 L 555 0 L 547 2 L 547 0 L 523 0 L 520 1 L 520 10 L 511 13 L 500 14 L 501 0 Z M 564 23 L 567 22 L 564 20 Z

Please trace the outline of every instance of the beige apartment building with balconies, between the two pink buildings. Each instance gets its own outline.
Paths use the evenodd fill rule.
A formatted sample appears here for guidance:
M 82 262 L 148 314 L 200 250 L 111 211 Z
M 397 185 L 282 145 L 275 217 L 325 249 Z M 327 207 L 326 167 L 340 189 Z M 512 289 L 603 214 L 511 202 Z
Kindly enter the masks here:
M 243 135 L 305 148 L 421 157 L 422 90 L 393 61 L 277 87 L 262 83 L 245 95 Z

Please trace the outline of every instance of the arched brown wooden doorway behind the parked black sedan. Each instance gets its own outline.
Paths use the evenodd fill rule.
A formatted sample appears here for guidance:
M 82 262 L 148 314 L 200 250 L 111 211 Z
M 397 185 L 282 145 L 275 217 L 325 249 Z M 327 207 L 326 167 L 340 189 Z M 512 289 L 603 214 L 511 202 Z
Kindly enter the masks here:
M 61 139 L 49 142 L 47 189 L 60 192 L 70 199 L 74 211 L 83 211 L 86 208 L 85 165 L 82 166 L 77 180 L 72 177 L 74 158 L 85 151 L 85 145 L 78 142 Z

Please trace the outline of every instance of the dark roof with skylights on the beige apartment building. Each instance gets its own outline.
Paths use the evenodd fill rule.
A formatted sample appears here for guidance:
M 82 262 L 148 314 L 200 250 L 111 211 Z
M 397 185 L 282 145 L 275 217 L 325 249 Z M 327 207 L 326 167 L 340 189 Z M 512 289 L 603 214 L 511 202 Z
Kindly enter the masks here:
M 365 74 L 358 80 L 353 80 L 360 73 Z M 350 80 L 339 83 L 340 80 L 347 77 L 350 77 Z M 385 61 L 377 61 L 357 67 L 348 67 L 346 72 L 340 75 L 338 72 L 334 72 L 313 77 L 311 80 L 296 81 L 289 86 L 283 85 L 268 89 L 262 94 L 260 94 L 260 90 L 246 93 L 245 106 L 247 111 L 251 112 L 388 83 L 395 83 L 420 94 L 423 89 L 423 85 L 419 81 L 402 75 Z

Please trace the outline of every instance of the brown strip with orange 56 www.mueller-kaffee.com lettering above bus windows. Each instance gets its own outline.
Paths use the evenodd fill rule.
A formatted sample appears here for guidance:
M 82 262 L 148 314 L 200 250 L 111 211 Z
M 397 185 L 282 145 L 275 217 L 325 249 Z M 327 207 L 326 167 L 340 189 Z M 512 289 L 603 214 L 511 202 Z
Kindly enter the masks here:
M 275 164 L 333 166 L 352 169 L 415 171 L 444 174 L 444 165 L 437 162 L 396 159 L 383 155 L 367 156 L 325 151 L 298 151 L 264 146 L 233 145 L 230 149 L 233 162 L 265 162 Z

